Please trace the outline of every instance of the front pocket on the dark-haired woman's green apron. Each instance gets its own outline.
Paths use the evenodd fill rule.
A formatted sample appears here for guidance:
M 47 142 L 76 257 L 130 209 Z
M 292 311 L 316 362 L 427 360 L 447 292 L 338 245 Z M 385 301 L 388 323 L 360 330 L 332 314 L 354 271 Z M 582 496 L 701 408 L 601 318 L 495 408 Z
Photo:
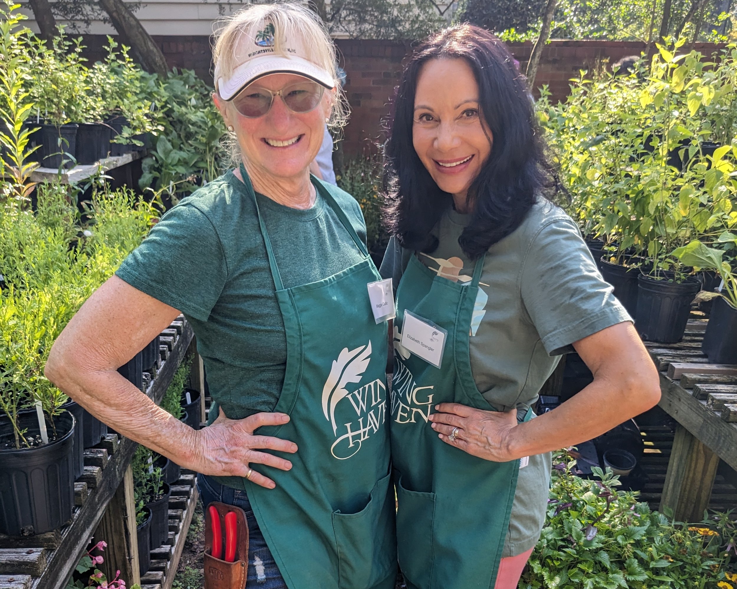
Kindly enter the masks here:
M 399 568 L 416 587 L 430 587 L 433 574 L 435 493 L 408 491 L 397 482 Z

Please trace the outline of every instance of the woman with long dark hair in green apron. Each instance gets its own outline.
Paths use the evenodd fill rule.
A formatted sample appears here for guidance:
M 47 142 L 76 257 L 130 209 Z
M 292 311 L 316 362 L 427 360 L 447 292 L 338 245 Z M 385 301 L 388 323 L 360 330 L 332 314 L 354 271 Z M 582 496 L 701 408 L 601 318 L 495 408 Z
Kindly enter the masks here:
M 494 35 L 445 29 L 405 68 L 386 145 L 381 274 L 397 286 L 391 451 L 409 588 L 517 587 L 551 451 L 660 398 L 632 320 L 559 190 L 525 79 Z M 594 380 L 537 419 L 563 353 Z

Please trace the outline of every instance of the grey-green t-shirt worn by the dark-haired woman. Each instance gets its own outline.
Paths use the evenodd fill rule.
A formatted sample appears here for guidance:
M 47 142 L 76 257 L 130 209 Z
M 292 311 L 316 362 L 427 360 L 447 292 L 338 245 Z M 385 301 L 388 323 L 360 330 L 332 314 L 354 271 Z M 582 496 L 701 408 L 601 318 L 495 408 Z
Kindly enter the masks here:
M 474 263 L 458 245 L 469 215 L 453 208 L 433 230 L 439 244 L 419 260 L 453 281 L 469 282 Z M 413 252 L 392 239 L 381 274 L 397 288 Z M 432 319 L 432 317 L 429 317 Z M 496 409 L 526 410 L 573 342 L 630 321 L 601 278 L 576 224 L 539 200 L 517 230 L 489 247 L 471 324 L 471 370 Z M 503 556 L 531 549 L 545 522 L 551 455 L 520 468 Z

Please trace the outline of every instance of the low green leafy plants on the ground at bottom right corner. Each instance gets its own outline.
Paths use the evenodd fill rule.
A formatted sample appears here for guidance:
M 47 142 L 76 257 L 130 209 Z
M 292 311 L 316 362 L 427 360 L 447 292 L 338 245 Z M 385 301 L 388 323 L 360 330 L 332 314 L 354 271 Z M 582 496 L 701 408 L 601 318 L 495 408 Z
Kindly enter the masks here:
M 678 523 L 652 512 L 637 493 L 616 490 L 610 469 L 594 468 L 595 479 L 587 480 L 573 474 L 569 454 L 554 462 L 545 527 L 520 588 L 717 589 L 733 575 L 728 515 Z

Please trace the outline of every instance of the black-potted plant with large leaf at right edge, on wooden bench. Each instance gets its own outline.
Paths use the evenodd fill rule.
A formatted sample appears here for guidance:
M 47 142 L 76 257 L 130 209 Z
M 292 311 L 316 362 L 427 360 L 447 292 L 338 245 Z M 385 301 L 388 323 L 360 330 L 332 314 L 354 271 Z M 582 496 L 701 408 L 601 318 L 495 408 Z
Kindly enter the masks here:
M 737 236 L 727 233 L 722 242 L 736 243 Z M 724 251 L 707 247 L 695 239 L 673 253 L 683 264 L 699 269 L 715 270 L 722 278 L 706 325 L 702 350 L 714 364 L 737 364 L 737 277 L 732 267 L 722 259 Z

